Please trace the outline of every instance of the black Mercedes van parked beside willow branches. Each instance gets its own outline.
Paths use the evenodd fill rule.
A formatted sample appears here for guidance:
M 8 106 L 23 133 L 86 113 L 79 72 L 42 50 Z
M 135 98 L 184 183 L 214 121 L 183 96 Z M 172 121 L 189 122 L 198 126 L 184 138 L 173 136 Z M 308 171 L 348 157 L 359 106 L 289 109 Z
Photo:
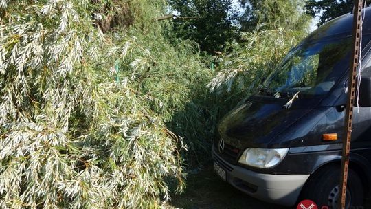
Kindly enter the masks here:
M 361 207 L 371 188 L 371 9 L 363 12 L 348 208 Z M 311 199 L 337 208 L 352 20 L 346 14 L 312 32 L 256 94 L 225 115 L 212 148 L 222 179 L 263 201 L 293 206 Z

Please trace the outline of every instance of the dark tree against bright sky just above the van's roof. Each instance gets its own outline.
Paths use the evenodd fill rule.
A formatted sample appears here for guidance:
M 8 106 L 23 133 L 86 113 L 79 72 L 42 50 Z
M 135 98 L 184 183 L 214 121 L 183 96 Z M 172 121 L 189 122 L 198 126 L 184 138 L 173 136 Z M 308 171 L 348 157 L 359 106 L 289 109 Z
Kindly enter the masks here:
M 339 17 L 343 14 L 352 12 L 353 10 L 352 0 L 309 0 L 306 3 L 307 13 L 312 17 L 319 16 L 319 25 Z M 369 6 L 371 2 L 367 2 L 366 6 Z

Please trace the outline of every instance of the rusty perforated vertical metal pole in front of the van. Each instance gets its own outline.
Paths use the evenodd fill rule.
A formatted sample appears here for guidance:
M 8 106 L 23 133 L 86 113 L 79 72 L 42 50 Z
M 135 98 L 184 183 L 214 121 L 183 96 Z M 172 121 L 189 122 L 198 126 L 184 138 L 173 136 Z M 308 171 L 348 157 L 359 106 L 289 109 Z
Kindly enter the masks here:
M 346 206 L 346 182 L 348 179 L 348 166 L 349 166 L 349 152 L 350 152 L 350 139 L 352 136 L 352 114 L 353 104 L 355 102 L 355 83 L 357 75 L 357 66 L 359 63 L 360 54 L 360 37 L 361 37 L 361 12 L 362 0 L 355 0 L 355 10 L 353 12 L 353 54 L 349 70 L 348 78 L 348 100 L 346 103 L 346 118 L 345 118 L 345 135 L 343 138 L 343 152 L 341 155 L 341 176 L 340 176 L 340 189 L 339 208 L 344 209 Z

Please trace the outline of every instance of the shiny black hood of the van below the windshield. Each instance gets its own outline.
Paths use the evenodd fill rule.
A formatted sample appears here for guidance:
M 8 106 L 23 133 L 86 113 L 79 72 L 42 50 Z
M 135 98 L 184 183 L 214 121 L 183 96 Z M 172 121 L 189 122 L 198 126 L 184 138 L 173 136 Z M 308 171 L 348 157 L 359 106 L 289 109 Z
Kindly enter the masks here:
M 251 97 L 221 120 L 218 131 L 226 144 L 236 148 L 269 148 L 273 140 L 297 120 L 311 112 L 319 100 L 297 100 L 305 105 L 286 109 L 287 98 Z

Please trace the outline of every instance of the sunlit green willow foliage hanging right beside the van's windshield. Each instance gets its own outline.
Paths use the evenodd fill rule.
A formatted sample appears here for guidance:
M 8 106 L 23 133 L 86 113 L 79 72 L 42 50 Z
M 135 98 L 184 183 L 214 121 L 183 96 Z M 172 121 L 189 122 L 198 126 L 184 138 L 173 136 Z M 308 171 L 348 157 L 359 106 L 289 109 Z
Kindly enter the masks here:
M 242 1 L 246 3 L 247 1 Z M 249 1 L 251 32 L 232 43 L 230 53 L 218 59 L 218 75 L 208 87 L 229 92 L 232 100 L 246 98 L 267 77 L 286 53 L 306 34 L 310 18 L 304 12 L 305 1 Z M 249 13 L 249 10 L 246 12 Z

